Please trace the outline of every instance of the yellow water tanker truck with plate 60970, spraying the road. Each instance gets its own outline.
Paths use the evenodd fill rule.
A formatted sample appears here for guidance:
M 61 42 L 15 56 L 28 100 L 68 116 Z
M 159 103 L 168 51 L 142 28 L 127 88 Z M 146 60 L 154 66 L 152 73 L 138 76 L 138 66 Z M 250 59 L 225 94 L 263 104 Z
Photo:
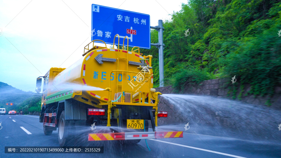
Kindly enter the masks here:
M 153 89 L 152 56 L 142 55 L 139 47 L 121 49 L 118 34 L 114 44 L 115 39 L 118 45 L 113 48 L 93 40 L 84 47 L 83 57 L 70 67 L 52 67 L 37 78 L 37 92 L 44 79 L 39 121 L 45 135 L 58 128 L 60 146 L 75 144 L 74 137 L 84 136 L 76 134 L 81 126 L 89 129 L 85 133 L 88 141 L 138 143 L 141 139 L 183 137 L 182 131 L 155 131 L 157 118 L 167 117 L 167 112 L 158 111 L 161 93 Z M 128 37 L 122 48 L 125 41 L 129 48 Z M 105 47 L 95 46 L 95 42 L 103 42 Z M 148 121 L 153 132 L 148 131 Z M 99 126 L 111 130 L 100 133 Z

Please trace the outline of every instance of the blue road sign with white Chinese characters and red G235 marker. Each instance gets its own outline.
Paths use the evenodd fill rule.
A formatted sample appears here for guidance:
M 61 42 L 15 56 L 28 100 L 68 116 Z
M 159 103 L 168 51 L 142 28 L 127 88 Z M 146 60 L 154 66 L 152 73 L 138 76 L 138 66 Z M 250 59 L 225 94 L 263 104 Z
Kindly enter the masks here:
M 128 36 L 130 47 L 150 49 L 150 15 L 92 4 L 91 39 L 113 44 L 116 34 L 120 36 L 120 45 Z M 127 46 L 127 38 L 124 45 Z

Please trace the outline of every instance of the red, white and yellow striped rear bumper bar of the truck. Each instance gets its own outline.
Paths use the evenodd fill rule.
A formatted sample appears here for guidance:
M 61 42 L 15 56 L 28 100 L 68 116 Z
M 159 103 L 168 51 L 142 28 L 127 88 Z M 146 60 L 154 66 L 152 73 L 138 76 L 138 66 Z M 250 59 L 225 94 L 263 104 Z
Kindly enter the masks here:
M 114 141 L 114 140 L 134 140 L 134 139 L 182 138 L 182 137 L 183 137 L 183 131 L 89 133 L 88 141 Z

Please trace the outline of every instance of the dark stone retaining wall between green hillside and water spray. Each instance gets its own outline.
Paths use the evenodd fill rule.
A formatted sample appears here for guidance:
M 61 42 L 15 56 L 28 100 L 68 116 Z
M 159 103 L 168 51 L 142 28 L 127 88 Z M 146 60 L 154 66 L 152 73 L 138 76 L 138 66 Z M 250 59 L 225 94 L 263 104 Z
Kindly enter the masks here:
M 254 105 L 262 105 L 268 106 L 267 101 L 270 98 L 271 106 L 270 108 L 280 110 L 281 111 L 281 85 L 276 86 L 274 88 L 275 92 L 272 97 L 267 96 L 254 96 L 254 95 L 246 95 L 251 87 L 250 84 L 244 84 L 244 91 L 242 92 L 242 96 L 239 99 L 238 95 L 241 92 L 241 89 L 238 88 L 235 95 L 232 94 L 229 87 L 234 86 L 240 87 L 239 82 L 235 82 L 232 84 L 230 79 L 213 79 L 206 80 L 199 84 L 188 84 L 184 86 L 183 90 L 180 92 L 175 91 L 172 86 L 165 86 L 155 88 L 156 91 L 161 92 L 162 94 L 193 94 L 193 95 L 207 95 L 207 96 L 215 96 L 232 99 L 235 96 L 234 100 L 242 101 L 249 104 Z

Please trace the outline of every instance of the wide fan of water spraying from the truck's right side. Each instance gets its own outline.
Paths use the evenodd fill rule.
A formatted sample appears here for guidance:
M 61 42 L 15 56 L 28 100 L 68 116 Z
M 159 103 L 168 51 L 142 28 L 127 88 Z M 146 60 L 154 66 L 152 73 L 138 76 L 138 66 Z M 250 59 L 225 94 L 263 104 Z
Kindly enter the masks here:
M 178 120 L 177 122 L 180 121 L 184 124 L 189 122 L 191 127 L 195 127 L 194 132 L 218 136 L 230 135 L 230 133 L 238 136 L 238 133 L 239 137 L 244 136 L 249 139 L 270 137 L 280 140 L 277 128 L 280 124 L 278 122 L 280 121 L 280 111 L 269 107 L 212 96 L 179 94 L 163 94 L 160 97 L 161 103 L 166 104 L 168 110 L 174 108 L 175 114 L 170 114 L 170 116 L 177 116 L 175 118 Z M 159 107 L 161 108 L 163 105 L 159 105 Z M 180 124 L 183 131 L 185 131 L 184 124 Z M 160 126 L 158 129 L 168 126 Z

